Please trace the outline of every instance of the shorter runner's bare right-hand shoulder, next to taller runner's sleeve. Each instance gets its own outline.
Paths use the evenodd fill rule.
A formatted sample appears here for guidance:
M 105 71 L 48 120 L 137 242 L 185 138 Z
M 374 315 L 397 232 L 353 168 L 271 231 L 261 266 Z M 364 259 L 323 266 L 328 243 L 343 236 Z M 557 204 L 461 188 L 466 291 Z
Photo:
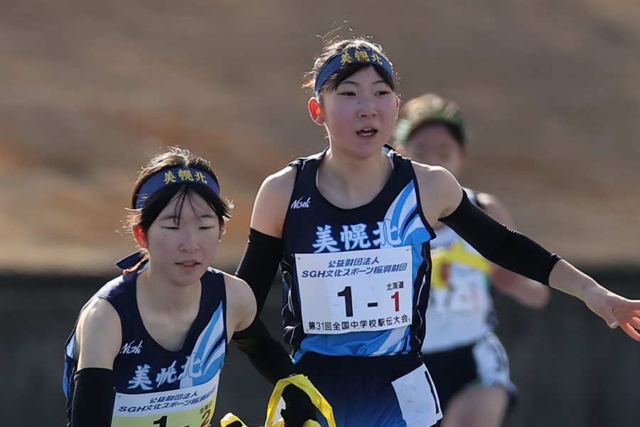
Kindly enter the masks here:
M 235 331 L 246 329 L 256 314 L 253 291 L 247 283 L 234 275 L 223 273 L 227 295 L 227 326 L 229 338 Z

